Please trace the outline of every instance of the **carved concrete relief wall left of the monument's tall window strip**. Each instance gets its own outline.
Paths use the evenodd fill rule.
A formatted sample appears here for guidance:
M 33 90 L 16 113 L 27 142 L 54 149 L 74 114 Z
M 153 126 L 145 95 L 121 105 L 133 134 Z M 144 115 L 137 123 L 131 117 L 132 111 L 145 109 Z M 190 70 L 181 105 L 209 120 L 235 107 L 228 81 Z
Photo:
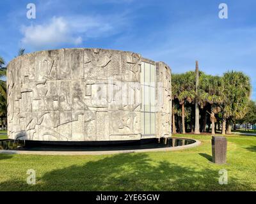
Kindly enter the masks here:
M 140 82 L 140 64 L 138 54 L 101 49 L 42 51 L 14 59 L 7 73 L 10 138 L 140 139 L 140 104 L 110 103 L 120 99 L 118 92 L 111 98 L 108 85 L 99 82 L 109 77 L 113 86 L 115 80 Z M 106 96 L 93 101 L 99 89 Z

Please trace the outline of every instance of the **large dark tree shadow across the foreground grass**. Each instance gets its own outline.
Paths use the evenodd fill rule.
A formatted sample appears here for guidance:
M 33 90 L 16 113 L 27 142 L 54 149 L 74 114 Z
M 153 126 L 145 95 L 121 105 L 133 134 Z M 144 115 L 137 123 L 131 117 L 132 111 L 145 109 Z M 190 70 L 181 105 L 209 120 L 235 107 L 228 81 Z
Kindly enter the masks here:
M 48 164 L 47 164 L 48 165 Z M 54 165 L 54 162 L 51 163 Z M 147 154 L 118 154 L 56 169 L 36 176 L 29 186 L 26 176 L 0 184 L 6 191 L 225 191 L 250 190 L 232 179 L 228 185 L 218 184 L 219 168 L 184 166 L 169 161 L 152 161 Z M 221 167 L 223 168 L 223 167 Z

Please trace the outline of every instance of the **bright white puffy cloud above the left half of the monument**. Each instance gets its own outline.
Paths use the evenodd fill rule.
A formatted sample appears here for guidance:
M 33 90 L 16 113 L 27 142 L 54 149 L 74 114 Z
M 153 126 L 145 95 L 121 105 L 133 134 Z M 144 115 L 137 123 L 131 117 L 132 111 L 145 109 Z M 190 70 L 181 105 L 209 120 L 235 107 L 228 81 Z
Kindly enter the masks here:
M 52 17 L 48 22 L 21 28 L 22 43 L 35 49 L 79 45 L 87 38 L 105 36 L 109 31 L 113 31 L 113 25 L 109 24 L 108 18 L 90 16 Z

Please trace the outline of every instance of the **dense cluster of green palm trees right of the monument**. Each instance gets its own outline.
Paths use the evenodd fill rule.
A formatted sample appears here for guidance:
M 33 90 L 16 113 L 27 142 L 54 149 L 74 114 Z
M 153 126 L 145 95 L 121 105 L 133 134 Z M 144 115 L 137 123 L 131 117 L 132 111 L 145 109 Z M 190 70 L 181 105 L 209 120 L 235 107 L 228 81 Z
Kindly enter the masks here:
M 200 71 L 197 94 L 195 92 L 194 71 L 173 74 L 174 124 L 178 124 L 177 128 L 180 132 L 180 126 L 182 127 L 182 133 L 184 133 L 183 126 L 186 126 L 186 131 L 189 129 L 193 131 L 195 107 L 191 104 L 198 103 L 200 107 L 200 131 L 206 131 L 207 124 L 208 131 L 211 126 L 214 134 L 215 124 L 218 123 L 220 129 L 220 123 L 222 123 L 222 133 L 230 133 L 231 123 L 243 119 L 244 115 L 248 113 L 251 90 L 250 78 L 241 71 L 227 71 L 221 77 L 207 75 Z M 180 122 L 180 114 L 182 122 Z M 250 117 L 248 116 L 248 118 Z M 188 128 L 188 126 L 190 127 Z

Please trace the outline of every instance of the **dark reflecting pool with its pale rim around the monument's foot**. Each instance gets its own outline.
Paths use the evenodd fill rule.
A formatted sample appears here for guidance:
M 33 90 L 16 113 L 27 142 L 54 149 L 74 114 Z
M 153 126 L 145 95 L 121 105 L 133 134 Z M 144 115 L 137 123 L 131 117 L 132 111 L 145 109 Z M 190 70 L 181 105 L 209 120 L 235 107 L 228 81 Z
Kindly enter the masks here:
M 130 141 L 129 143 L 109 143 L 109 145 L 63 145 L 58 143 L 31 143 L 28 145 L 20 142 L 20 145 L 12 145 L 11 140 L 5 140 L 8 144 L 3 145 L 0 140 L 0 153 L 5 154 L 40 154 L 40 155 L 96 155 L 96 154 L 120 154 L 132 152 L 154 152 L 154 151 L 171 151 L 182 150 L 200 145 L 200 141 L 189 138 L 151 138 L 137 141 Z M 10 147 L 8 147 L 10 145 Z M 12 148 L 14 147 L 14 148 Z

